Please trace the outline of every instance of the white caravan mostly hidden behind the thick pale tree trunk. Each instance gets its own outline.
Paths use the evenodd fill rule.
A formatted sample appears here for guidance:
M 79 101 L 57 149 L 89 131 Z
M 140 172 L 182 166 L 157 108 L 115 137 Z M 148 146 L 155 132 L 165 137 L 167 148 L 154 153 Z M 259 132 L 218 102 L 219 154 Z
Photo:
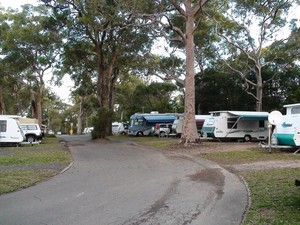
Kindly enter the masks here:
M 199 136 L 202 136 L 202 127 L 204 124 L 205 119 L 207 119 L 209 115 L 195 115 L 196 120 L 196 126 L 197 131 L 199 133 Z M 184 115 L 178 115 L 176 120 L 174 120 L 172 125 L 172 134 L 176 135 L 177 137 L 180 137 L 182 134 L 182 125 L 183 125 Z

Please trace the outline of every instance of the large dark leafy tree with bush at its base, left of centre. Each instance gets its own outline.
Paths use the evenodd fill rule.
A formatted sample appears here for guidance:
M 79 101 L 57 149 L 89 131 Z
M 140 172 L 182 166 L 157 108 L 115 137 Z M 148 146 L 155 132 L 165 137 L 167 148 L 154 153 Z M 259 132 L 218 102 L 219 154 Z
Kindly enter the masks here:
M 84 40 L 93 46 L 86 53 L 95 62 L 99 107 L 105 114 L 112 114 L 114 89 L 120 71 L 124 65 L 128 67 L 143 58 L 143 53 L 151 49 L 148 32 L 136 17 L 147 3 L 148 6 L 152 4 L 151 1 L 43 1 L 53 7 L 56 18 L 65 22 L 69 32 L 67 41 Z M 111 121 L 105 121 L 104 132 L 96 137 L 103 138 L 110 133 Z

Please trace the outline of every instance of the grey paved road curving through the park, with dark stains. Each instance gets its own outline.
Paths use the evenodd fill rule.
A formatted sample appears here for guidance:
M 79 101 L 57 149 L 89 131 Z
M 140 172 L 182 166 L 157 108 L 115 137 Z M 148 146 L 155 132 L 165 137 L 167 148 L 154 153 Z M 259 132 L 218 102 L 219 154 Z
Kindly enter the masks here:
M 211 162 L 126 141 L 69 137 L 74 164 L 0 196 L 1 225 L 234 225 L 247 192 Z

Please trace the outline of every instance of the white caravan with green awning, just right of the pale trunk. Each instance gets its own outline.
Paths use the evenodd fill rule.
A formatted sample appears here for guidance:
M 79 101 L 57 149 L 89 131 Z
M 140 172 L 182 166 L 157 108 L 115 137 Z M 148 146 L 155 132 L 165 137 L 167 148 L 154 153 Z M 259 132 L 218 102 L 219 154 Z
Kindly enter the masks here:
M 268 112 L 212 111 L 202 127 L 204 137 L 222 139 L 266 140 Z

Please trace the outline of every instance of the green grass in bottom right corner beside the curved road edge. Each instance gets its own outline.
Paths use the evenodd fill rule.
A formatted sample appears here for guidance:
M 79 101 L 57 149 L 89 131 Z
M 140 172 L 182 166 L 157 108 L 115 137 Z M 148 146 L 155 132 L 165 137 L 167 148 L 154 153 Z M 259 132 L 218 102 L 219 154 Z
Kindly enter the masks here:
M 245 225 L 300 224 L 300 168 L 243 172 L 249 185 L 251 206 Z

